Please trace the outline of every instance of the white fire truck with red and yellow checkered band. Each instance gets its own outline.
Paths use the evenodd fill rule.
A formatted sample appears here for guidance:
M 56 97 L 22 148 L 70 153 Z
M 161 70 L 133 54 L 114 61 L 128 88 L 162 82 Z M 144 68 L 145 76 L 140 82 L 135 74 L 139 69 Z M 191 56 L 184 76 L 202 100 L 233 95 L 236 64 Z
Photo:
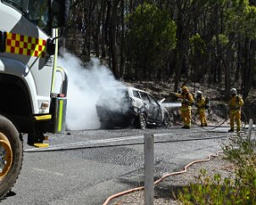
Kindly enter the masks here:
M 18 178 L 23 136 L 46 147 L 47 133 L 65 130 L 68 78 L 57 57 L 69 11 L 70 0 L 0 0 L 0 198 Z

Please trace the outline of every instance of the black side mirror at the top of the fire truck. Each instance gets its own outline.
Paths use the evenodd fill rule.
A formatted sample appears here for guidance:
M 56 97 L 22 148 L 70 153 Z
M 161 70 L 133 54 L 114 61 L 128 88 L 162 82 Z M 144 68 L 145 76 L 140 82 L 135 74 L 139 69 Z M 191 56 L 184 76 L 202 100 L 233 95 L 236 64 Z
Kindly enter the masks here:
M 70 14 L 70 0 L 52 0 L 51 13 L 52 27 L 63 28 Z

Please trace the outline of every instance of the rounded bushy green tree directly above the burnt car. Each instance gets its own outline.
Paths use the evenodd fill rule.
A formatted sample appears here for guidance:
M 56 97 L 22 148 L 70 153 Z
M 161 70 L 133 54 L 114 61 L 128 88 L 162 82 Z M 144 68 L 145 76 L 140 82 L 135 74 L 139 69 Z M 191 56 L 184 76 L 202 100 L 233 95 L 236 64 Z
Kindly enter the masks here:
M 175 22 L 154 4 L 142 3 L 126 16 L 125 55 L 136 79 L 161 75 L 175 47 Z

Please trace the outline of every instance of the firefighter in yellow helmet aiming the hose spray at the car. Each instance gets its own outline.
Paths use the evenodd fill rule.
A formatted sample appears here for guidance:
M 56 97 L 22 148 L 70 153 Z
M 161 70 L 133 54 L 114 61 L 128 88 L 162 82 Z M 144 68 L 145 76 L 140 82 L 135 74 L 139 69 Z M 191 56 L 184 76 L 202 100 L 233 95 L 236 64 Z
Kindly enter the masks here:
M 187 86 L 181 87 L 181 93 L 174 93 L 176 97 L 181 98 L 181 118 L 183 121 L 184 129 L 190 129 L 191 126 L 191 106 L 194 102 L 192 94 L 188 90 Z

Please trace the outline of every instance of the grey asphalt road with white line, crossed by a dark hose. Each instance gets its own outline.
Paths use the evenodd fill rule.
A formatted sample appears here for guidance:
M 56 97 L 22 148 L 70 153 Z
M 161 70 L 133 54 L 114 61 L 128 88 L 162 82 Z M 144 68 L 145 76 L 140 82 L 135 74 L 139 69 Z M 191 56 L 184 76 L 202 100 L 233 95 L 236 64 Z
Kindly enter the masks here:
M 228 128 L 81 130 L 50 135 L 50 147 L 26 145 L 24 163 L 4 204 L 97 205 L 142 186 L 143 134 L 154 134 L 155 177 L 207 158 L 226 143 Z M 124 145 L 125 144 L 125 145 Z

